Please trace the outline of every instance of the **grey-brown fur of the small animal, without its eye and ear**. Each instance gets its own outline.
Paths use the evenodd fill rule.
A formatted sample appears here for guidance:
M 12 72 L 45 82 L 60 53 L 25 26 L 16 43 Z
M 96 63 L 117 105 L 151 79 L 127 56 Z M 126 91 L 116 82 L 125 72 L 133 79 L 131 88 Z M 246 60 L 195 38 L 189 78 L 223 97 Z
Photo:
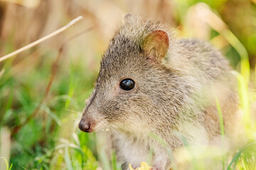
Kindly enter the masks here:
M 110 127 L 123 169 L 146 161 L 149 149 L 154 151 L 153 169 L 170 169 L 167 151 L 182 147 L 181 137 L 191 145 L 208 145 L 220 135 L 215 96 L 225 130 L 231 129 L 237 106 L 233 74 L 227 60 L 206 42 L 176 38 L 168 27 L 130 14 L 124 20 L 102 57 L 80 129 Z M 150 60 L 142 48 L 154 30 L 169 34 L 169 50 L 161 62 Z M 125 78 L 135 81 L 134 90 L 119 88 Z

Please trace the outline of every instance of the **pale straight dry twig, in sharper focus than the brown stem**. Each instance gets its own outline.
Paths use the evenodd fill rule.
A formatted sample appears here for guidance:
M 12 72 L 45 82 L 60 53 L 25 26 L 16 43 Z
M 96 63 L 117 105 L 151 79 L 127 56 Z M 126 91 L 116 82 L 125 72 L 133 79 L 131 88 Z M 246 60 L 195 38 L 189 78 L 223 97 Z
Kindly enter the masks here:
M 63 28 L 55 30 L 53 33 L 50 33 L 50 34 L 44 36 L 43 38 L 40 38 L 39 40 L 36 40 L 29 45 L 26 45 L 25 47 L 21 47 L 20 49 L 14 51 L 14 52 L 11 52 L 9 55 L 4 55 L 3 57 L 0 58 L 0 62 L 4 61 L 10 57 L 14 57 L 14 55 L 17 55 L 18 53 L 23 52 L 25 50 L 28 50 L 29 48 L 31 48 L 35 45 L 38 45 L 39 43 L 41 43 L 49 38 L 52 38 L 53 36 L 58 35 L 59 33 L 62 33 L 64 30 L 75 25 L 75 23 L 78 23 L 78 21 L 80 21 L 81 19 L 82 19 L 82 16 L 78 16 L 78 18 L 73 19 L 73 21 L 70 21 L 70 23 L 68 23 L 68 25 L 64 26 Z

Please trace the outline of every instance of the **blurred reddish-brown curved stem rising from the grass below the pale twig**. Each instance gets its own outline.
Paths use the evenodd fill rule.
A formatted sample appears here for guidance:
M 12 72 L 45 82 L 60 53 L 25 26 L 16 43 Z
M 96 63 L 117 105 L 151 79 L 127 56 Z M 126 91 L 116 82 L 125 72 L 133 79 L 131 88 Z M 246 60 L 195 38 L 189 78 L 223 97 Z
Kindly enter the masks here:
M 11 136 L 14 136 L 19 130 L 21 130 L 21 128 L 23 128 L 24 125 L 26 125 L 33 117 L 36 116 L 36 114 L 38 113 L 38 111 L 40 111 L 41 106 L 43 104 L 43 102 L 46 99 L 46 96 L 48 96 L 49 91 L 50 91 L 50 87 L 53 84 L 53 80 L 55 78 L 55 74 L 58 70 L 58 62 L 60 61 L 60 56 L 63 52 L 63 49 L 66 45 L 67 42 L 69 42 L 71 39 L 78 37 L 78 35 L 81 35 L 83 33 L 87 33 L 88 31 L 92 30 L 92 27 L 87 28 L 86 30 L 83 30 L 82 32 L 73 35 L 72 37 L 68 38 L 68 40 L 65 40 L 65 42 L 63 43 L 63 45 L 61 45 L 60 49 L 58 50 L 58 56 L 56 57 L 55 61 L 53 62 L 53 66 L 50 72 L 50 79 L 48 81 L 48 85 L 46 87 L 46 91 L 43 94 L 43 97 L 41 98 L 41 101 L 38 103 L 38 106 L 36 107 L 35 111 L 33 111 L 33 113 L 31 115 L 28 116 L 28 118 L 26 118 L 26 120 L 21 123 L 20 125 L 17 125 L 14 130 L 12 130 L 11 132 Z

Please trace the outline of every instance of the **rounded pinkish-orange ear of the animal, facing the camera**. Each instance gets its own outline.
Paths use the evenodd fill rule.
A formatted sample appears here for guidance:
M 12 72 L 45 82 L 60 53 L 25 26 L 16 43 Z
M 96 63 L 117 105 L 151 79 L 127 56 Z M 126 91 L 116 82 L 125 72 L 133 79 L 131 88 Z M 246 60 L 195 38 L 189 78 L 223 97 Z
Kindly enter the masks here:
M 146 35 L 142 42 L 142 50 L 150 60 L 161 63 L 169 49 L 169 35 L 164 30 L 154 30 Z

